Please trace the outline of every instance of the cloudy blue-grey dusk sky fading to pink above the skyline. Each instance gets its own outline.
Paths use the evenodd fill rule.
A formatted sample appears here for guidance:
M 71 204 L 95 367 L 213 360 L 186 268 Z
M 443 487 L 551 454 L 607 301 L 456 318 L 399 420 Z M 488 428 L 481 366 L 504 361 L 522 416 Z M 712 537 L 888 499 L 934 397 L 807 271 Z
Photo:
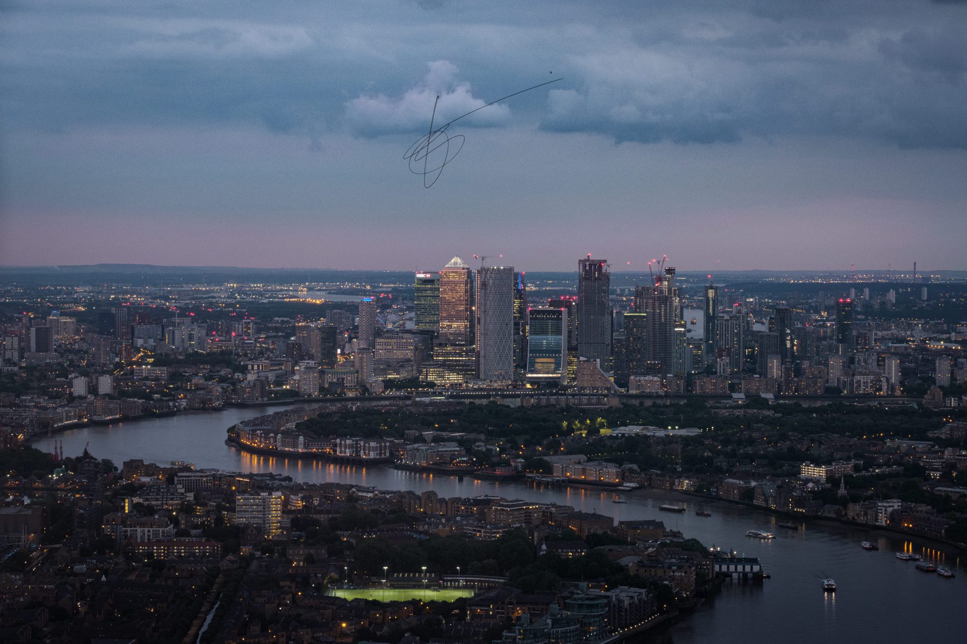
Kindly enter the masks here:
M 965 42 L 955 0 L 0 0 L 0 264 L 967 269 Z M 410 172 L 437 96 L 555 78 Z

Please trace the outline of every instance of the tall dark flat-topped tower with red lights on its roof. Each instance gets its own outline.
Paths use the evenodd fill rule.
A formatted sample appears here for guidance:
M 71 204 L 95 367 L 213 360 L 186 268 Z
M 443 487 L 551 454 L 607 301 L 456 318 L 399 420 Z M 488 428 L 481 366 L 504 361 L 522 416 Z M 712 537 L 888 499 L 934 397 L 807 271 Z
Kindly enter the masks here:
M 577 264 L 577 352 L 611 369 L 611 270 L 588 255 Z

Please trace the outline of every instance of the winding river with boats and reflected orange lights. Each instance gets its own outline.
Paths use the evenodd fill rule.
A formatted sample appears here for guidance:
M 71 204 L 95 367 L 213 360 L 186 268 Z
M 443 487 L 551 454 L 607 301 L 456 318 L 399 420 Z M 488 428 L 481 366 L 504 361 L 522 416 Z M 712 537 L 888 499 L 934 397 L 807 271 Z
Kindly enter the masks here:
M 955 641 L 963 633 L 959 607 L 967 601 L 967 557 L 931 549 L 928 544 L 885 531 L 843 526 L 830 521 L 803 521 L 793 531 L 776 525 L 768 513 L 723 501 L 684 497 L 684 515 L 659 512 L 655 498 L 625 495 L 626 504 L 612 503 L 614 495 L 601 490 L 547 490 L 523 482 L 475 481 L 465 477 L 398 471 L 389 467 L 336 465 L 250 455 L 224 444 L 225 430 L 238 421 L 278 411 L 279 407 L 231 407 L 219 412 L 184 413 L 90 426 L 55 436 L 63 440 L 65 456 L 79 454 L 85 444 L 91 454 L 111 459 L 119 467 L 128 459 L 167 464 L 194 462 L 243 472 L 278 472 L 306 482 L 338 481 L 386 490 L 435 490 L 441 496 L 499 494 L 535 499 L 597 511 L 618 519 L 659 518 L 706 546 L 734 548 L 759 557 L 772 578 L 761 582 L 726 582 L 720 592 L 688 619 L 653 634 L 662 644 L 749 641 L 883 642 L 931 641 L 945 635 Z M 34 446 L 49 450 L 54 438 Z M 702 508 L 712 517 L 695 516 Z M 783 520 L 783 519 L 779 519 Z M 773 541 L 748 538 L 747 530 L 763 529 Z M 878 552 L 860 548 L 871 541 Z M 957 576 L 944 579 L 922 573 L 913 562 L 894 557 L 896 550 L 921 553 L 924 559 L 951 568 Z M 825 594 L 820 580 L 833 577 L 837 592 Z

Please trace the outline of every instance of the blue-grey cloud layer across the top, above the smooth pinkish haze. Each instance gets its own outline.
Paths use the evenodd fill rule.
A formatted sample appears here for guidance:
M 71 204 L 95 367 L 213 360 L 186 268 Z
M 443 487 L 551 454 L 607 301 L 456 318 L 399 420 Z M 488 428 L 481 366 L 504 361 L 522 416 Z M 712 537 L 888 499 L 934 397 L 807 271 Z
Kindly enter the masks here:
M 14 5 L 0 105 L 9 127 L 238 122 L 376 135 L 422 127 L 434 93 L 445 110 L 477 106 L 553 66 L 568 87 L 471 125 L 509 125 L 513 109 L 547 131 L 616 141 L 807 134 L 967 146 L 961 7 L 749 0 L 482 14 L 407 0 L 379 3 L 374 19 L 376 6 Z M 229 19 L 227 7 L 239 11 Z M 450 71 L 430 88 L 434 62 Z

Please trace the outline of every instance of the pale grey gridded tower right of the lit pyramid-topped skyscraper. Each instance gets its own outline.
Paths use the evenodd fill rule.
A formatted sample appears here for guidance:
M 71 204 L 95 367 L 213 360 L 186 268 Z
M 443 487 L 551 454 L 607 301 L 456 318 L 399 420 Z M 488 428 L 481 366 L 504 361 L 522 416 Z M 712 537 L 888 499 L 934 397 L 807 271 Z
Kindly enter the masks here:
M 477 378 L 492 384 L 513 381 L 513 266 L 477 271 Z

